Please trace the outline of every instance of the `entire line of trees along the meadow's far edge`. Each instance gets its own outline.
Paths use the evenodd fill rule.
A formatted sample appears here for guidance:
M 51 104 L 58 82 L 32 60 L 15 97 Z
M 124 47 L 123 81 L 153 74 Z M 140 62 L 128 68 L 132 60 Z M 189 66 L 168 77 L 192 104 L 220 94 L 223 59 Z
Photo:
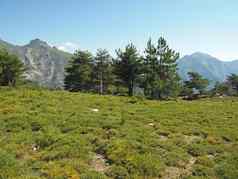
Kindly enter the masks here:
M 217 82 L 210 89 L 209 81 L 196 72 L 189 72 L 188 80 L 182 81 L 178 59 L 179 53 L 163 37 L 156 43 L 149 39 L 143 54 L 132 43 L 116 50 L 116 58 L 106 49 L 99 49 L 95 56 L 78 50 L 65 67 L 64 88 L 71 92 L 142 95 L 149 99 L 238 95 L 238 75 L 231 74 L 225 82 Z M 17 56 L 0 50 L 0 86 L 16 86 L 24 72 Z

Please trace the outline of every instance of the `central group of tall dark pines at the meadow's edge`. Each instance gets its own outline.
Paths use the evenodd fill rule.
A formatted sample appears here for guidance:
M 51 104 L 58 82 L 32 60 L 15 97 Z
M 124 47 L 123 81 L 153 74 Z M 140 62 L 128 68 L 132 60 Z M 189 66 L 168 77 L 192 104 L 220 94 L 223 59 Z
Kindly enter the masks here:
M 133 44 L 116 50 L 116 54 L 117 58 L 112 58 L 107 50 L 98 50 L 93 57 L 88 51 L 77 51 L 65 69 L 65 89 L 100 94 L 126 92 L 129 96 L 141 92 L 152 99 L 179 94 L 179 54 L 164 38 L 159 38 L 157 44 L 150 39 L 143 56 Z

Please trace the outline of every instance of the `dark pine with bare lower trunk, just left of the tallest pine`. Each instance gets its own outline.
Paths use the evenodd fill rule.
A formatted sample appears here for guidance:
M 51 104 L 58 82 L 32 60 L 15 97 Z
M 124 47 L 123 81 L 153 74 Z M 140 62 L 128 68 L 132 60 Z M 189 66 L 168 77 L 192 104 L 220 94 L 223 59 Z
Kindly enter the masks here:
M 116 61 L 115 73 L 121 84 L 128 89 L 128 95 L 133 96 L 136 79 L 140 74 L 140 58 L 133 44 L 126 46 L 125 50 L 117 50 L 118 61 Z

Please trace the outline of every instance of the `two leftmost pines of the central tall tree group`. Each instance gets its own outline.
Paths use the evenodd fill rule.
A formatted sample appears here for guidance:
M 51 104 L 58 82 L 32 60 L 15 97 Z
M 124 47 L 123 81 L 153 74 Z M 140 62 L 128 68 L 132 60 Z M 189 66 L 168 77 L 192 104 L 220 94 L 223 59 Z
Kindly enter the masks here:
M 65 69 L 65 89 L 109 93 L 113 82 L 112 69 L 112 57 L 108 51 L 100 49 L 96 57 L 88 51 L 77 51 Z

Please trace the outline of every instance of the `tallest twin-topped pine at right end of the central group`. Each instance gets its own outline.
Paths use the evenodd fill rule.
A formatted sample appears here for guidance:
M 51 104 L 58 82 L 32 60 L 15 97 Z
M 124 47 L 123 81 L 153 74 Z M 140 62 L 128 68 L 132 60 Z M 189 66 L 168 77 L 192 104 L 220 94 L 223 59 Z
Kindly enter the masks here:
M 145 49 L 145 94 L 153 99 L 177 96 L 180 78 L 177 74 L 179 54 L 170 49 L 164 38 L 159 38 L 157 46 L 151 39 Z

